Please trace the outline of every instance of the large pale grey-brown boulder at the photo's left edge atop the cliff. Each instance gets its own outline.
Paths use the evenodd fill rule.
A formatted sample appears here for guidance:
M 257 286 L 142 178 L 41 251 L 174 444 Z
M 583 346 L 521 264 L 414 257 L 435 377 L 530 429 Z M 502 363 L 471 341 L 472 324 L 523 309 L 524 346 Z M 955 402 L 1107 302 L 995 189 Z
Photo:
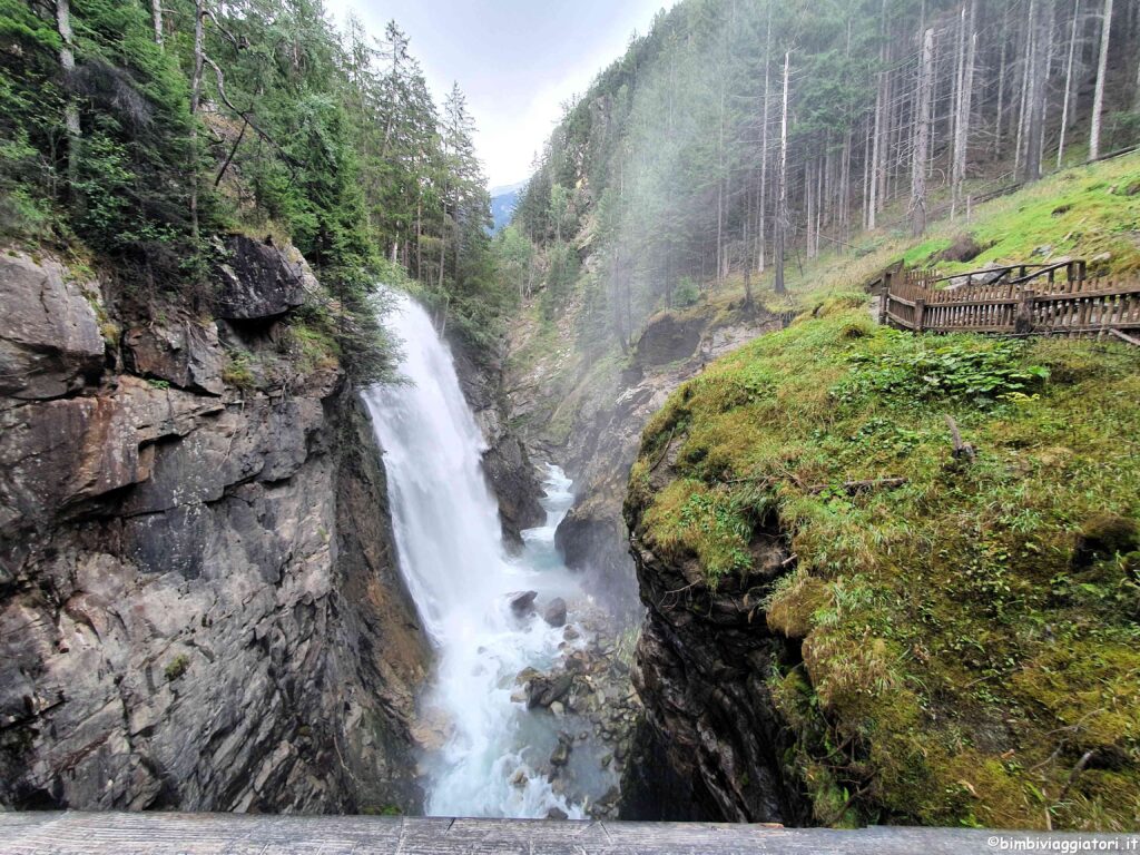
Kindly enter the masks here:
M 98 380 L 104 342 L 96 294 L 57 261 L 0 256 L 0 396 L 59 398 Z

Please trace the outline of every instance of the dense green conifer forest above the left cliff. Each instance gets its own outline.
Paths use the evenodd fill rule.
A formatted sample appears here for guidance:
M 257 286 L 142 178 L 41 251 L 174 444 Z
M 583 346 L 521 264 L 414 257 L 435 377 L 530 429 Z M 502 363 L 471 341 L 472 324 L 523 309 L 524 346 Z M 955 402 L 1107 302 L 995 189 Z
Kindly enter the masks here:
M 0 235 L 93 253 L 152 310 L 205 308 L 212 236 L 290 241 L 360 380 L 390 364 L 377 280 L 495 341 L 473 132 L 394 22 L 342 31 L 319 0 L 0 0 Z

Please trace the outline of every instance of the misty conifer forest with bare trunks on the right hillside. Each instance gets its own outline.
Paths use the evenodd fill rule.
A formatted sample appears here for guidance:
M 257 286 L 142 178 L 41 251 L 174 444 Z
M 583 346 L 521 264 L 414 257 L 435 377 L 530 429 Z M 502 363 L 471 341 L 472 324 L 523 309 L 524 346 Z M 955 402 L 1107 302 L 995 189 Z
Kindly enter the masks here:
M 584 349 L 626 349 L 707 283 L 742 276 L 750 308 L 755 276 L 782 294 L 865 230 L 922 234 L 1138 139 L 1137 3 L 690 0 L 568 107 L 508 270 L 548 317 L 580 300 Z

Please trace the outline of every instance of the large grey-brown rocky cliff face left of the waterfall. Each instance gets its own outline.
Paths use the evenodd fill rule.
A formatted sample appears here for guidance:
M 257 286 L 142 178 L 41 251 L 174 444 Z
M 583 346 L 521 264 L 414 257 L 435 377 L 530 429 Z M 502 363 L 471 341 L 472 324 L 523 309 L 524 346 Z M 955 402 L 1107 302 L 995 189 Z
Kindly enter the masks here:
M 0 258 L 0 804 L 416 806 L 367 416 L 295 348 L 303 261 L 228 249 L 217 320 Z

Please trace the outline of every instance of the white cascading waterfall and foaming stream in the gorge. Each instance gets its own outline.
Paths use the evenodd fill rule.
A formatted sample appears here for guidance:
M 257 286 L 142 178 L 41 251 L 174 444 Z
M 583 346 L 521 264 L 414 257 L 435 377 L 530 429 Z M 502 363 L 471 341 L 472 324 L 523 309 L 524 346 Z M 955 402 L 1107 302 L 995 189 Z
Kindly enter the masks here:
M 535 589 L 540 602 L 562 596 L 571 610 L 583 600 L 553 544 L 570 481 L 548 467 L 546 526 L 524 532 L 523 554 L 508 559 L 480 467 L 483 438 L 447 347 L 407 296 L 396 298 L 388 326 L 402 340 L 405 382 L 373 388 L 365 400 L 384 450 L 400 570 L 438 651 L 422 705 L 442 731 L 424 760 L 426 813 L 526 817 L 557 808 L 580 819 L 581 806 L 539 772 L 557 743 L 552 716 L 511 698 L 519 671 L 551 667 L 568 644 L 563 629 L 513 614 L 510 595 Z

